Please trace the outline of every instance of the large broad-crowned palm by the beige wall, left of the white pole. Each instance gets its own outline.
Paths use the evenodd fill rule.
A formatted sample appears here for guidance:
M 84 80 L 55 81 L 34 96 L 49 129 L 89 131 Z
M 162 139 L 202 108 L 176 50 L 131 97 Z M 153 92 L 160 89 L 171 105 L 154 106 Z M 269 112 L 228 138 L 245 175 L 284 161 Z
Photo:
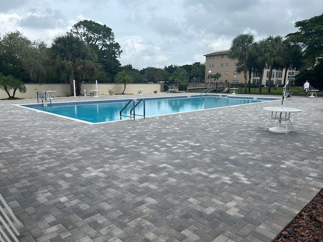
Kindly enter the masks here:
M 71 93 L 73 93 L 73 81 L 76 80 L 76 95 L 81 94 L 81 76 L 86 72 L 97 70 L 95 55 L 90 51 L 80 38 L 68 33 L 56 37 L 50 48 L 50 56 L 53 64 L 59 69 L 67 71 Z

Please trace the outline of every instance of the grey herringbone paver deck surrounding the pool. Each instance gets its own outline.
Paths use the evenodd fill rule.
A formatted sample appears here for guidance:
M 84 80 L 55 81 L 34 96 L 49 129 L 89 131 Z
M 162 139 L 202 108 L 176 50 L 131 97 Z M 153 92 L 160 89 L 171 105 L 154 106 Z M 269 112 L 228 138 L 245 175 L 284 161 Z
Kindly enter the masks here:
M 112 98 L 138 95 L 53 102 Z M 323 98 L 284 100 L 287 135 L 264 131 L 281 100 L 97 125 L 12 105 L 35 102 L 0 100 L 20 241 L 272 241 L 323 188 Z

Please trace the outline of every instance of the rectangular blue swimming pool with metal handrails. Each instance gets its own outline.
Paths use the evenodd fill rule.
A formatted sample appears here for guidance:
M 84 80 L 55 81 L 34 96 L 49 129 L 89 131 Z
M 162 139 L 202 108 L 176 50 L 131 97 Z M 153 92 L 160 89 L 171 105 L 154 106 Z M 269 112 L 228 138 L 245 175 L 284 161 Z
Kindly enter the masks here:
M 27 108 L 37 109 L 53 115 L 71 118 L 89 124 L 112 122 L 120 120 L 120 111 L 129 102 L 137 103 L 140 99 L 102 100 L 87 102 L 52 103 L 51 106 L 42 104 L 21 105 Z M 145 103 L 145 116 L 157 116 L 171 113 L 188 112 L 201 109 L 226 107 L 233 105 L 249 104 L 263 101 L 277 100 L 275 98 L 250 98 L 250 97 L 219 97 L 213 95 L 192 95 L 164 98 L 143 98 Z M 128 105 L 123 114 L 129 115 L 133 105 Z M 135 113 L 143 114 L 143 102 L 135 108 Z M 136 118 L 140 118 L 137 116 Z M 122 116 L 122 119 L 130 117 Z

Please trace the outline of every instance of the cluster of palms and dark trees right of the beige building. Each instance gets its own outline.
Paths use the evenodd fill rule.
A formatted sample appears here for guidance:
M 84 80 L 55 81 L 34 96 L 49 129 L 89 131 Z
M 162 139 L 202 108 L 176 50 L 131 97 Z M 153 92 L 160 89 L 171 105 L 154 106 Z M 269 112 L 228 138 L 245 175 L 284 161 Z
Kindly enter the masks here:
M 285 80 L 288 69 L 300 70 L 295 76 L 295 84 L 302 86 L 305 80 L 321 90 L 323 88 L 323 14 L 309 20 L 295 23 L 298 31 L 282 36 L 268 36 L 255 42 L 251 34 L 239 34 L 231 44 L 230 58 L 238 59 L 238 72 L 244 75 L 245 90 L 250 92 L 251 73 L 258 72 L 259 92 L 265 68 L 268 73 L 268 93 L 271 93 L 273 69 L 285 68 Z M 248 75 L 247 75 L 248 74 Z M 248 83 L 247 83 L 248 81 Z M 248 85 L 247 85 L 248 84 Z

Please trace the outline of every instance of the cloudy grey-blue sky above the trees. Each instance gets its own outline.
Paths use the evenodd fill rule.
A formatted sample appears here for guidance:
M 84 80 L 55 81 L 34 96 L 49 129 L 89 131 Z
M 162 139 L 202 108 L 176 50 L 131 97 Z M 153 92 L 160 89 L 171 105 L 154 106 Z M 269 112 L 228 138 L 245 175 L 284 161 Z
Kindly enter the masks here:
M 113 30 L 121 64 L 141 70 L 204 63 L 203 54 L 229 49 L 238 34 L 286 36 L 322 13 L 322 0 L 0 0 L 0 33 L 50 44 L 92 20 Z

